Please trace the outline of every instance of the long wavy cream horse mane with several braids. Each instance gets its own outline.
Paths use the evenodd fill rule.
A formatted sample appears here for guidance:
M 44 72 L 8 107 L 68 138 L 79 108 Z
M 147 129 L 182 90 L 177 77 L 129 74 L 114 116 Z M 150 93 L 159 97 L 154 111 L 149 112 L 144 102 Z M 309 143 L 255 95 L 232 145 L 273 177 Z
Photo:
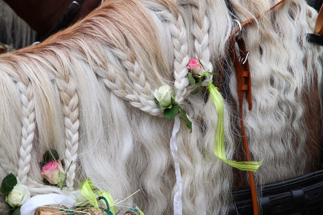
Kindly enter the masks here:
M 323 49 L 305 34 L 314 31 L 317 12 L 302 0 L 270 13 L 272 1 L 230 2 L 239 20 L 262 14 L 243 34 L 253 92 L 252 110 L 244 104 L 245 128 L 252 160 L 263 161 L 255 182 L 313 171 L 320 155 Z M 247 175 L 215 157 L 216 108 L 204 90 L 193 94 L 186 66 L 199 56 L 217 73 L 227 60 L 225 152 L 228 160 L 243 161 L 236 78 L 227 58 L 234 15 L 226 1 L 106 0 L 44 42 L 0 55 L 0 179 L 12 172 L 32 195 L 73 197 L 90 177 L 115 199 L 141 189 L 127 204 L 146 214 L 172 214 L 173 122 L 153 97 L 169 84 L 192 121 L 192 133 L 181 123 L 176 136 L 183 214 L 226 214 L 231 191 L 247 186 Z M 48 149 L 71 163 L 62 190 L 42 183 L 39 162 Z M 4 197 L 0 202 L 8 212 Z

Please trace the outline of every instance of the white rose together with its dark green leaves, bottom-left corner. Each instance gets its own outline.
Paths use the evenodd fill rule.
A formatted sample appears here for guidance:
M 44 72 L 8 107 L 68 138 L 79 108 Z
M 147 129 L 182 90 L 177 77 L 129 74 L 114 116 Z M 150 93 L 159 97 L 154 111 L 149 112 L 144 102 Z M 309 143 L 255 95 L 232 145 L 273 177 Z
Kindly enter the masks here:
M 20 206 L 30 198 L 25 185 L 18 184 L 14 174 L 7 175 L 1 183 L 0 191 L 5 194 L 5 201 L 11 207 L 11 215 L 20 215 Z

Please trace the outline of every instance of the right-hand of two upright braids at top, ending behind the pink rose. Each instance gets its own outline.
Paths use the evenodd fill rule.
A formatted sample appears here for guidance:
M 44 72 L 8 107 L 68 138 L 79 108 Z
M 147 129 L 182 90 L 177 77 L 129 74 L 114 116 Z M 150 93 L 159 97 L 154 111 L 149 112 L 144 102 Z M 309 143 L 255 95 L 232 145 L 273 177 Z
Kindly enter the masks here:
M 204 5 L 202 5 L 204 3 Z M 193 29 L 192 34 L 195 38 L 194 47 L 195 54 L 204 62 L 204 69 L 213 71 L 213 65 L 210 62 L 209 49 L 209 17 L 206 14 L 206 2 L 199 0 L 197 7 L 193 6 Z M 212 79 L 211 75 L 207 76 L 208 80 Z

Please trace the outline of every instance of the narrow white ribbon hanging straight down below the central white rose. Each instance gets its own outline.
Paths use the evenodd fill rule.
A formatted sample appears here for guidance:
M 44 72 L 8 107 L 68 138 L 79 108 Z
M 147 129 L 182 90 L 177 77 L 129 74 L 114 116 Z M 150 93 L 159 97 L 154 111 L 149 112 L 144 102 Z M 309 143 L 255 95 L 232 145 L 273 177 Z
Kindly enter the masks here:
M 174 196 L 174 215 L 182 215 L 183 182 L 181 177 L 180 162 L 178 159 L 177 142 L 176 142 L 176 134 L 180 130 L 180 125 L 181 125 L 181 120 L 179 119 L 178 115 L 176 115 L 173 132 L 172 132 L 172 138 L 170 141 L 171 152 L 175 163 L 175 175 L 176 175 L 176 185 L 177 185 L 177 191 Z

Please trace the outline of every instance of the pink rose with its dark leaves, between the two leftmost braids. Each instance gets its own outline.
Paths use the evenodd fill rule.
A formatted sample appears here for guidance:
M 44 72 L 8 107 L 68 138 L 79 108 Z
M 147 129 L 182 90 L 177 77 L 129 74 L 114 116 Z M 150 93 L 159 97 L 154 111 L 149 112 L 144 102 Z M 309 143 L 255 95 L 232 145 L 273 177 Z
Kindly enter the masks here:
M 40 164 L 41 176 L 44 178 L 43 182 L 47 185 L 56 185 L 63 189 L 66 178 L 64 160 L 59 159 L 57 151 L 53 149 L 46 151 L 43 158 L 44 161 Z

